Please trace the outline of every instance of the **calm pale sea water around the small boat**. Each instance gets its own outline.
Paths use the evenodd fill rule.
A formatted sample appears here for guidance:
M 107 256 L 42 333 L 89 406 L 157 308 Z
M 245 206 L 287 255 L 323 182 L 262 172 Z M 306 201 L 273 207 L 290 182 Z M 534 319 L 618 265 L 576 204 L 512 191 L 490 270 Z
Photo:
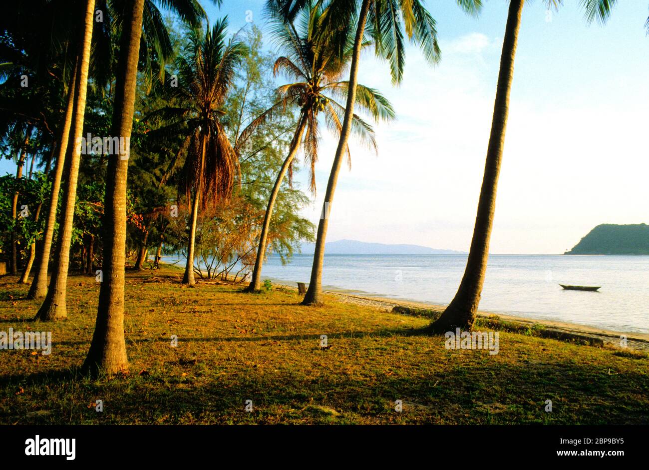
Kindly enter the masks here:
M 308 282 L 311 254 L 282 266 L 271 255 L 263 277 Z M 464 254 L 328 254 L 323 288 L 448 304 L 464 272 Z M 602 286 L 565 291 L 561 284 Z M 649 333 L 649 256 L 506 255 L 489 257 L 480 309 L 622 332 Z

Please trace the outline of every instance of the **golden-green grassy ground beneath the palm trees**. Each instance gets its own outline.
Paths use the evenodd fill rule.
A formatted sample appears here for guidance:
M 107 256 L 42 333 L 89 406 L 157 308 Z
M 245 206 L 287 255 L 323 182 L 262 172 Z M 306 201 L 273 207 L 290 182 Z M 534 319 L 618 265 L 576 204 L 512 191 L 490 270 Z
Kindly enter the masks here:
M 0 330 L 53 336 L 49 356 L 0 351 L 0 423 L 649 422 L 646 356 L 510 332 L 496 355 L 450 351 L 418 334 L 428 319 L 332 299 L 299 306 L 290 290 L 180 288 L 177 273 L 127 275 L 130 374 L 99 380 L 76 371 L 92 338 L 94 278 L 69 278 L 68 319 L 51 325 L 29 321 L 38 303 L 24 300 L 27 286 L 0 278 Z

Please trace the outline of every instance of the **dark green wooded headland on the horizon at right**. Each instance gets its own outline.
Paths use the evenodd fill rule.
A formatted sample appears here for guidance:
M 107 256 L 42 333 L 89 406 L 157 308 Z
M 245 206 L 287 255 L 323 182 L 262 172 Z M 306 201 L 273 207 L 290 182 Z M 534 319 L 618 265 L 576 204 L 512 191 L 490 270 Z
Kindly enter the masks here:
M 563 254 L 649 254 L 649 225 L 603 223 Z

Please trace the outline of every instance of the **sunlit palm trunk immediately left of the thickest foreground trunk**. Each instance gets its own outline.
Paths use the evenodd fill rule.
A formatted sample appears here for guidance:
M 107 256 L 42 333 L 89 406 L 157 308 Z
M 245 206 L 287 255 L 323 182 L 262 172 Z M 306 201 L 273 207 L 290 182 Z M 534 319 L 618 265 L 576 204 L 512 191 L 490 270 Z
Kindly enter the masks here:
M 75 128 L 70 155 L 67 166 L 67 181 L 63 197 L 64 219 L 61 224 L 56 243 L 54 272 L 47 289 L 45 300 L 38 309 L 36 319 L 50 321 L 67 317 L 66 290 L 67 269 L 70 260 L 70 243 L 75 216 L 75 202 L 77 201 L 77 177 L 79 177 L 79 162 L 81 160 L 81 134 L 83 132 L 84 114 L 86 112 L 86 92 L 88 90 L 88 66 L 90 64 L 90 47 L 92 41 L 93 14 L 95 0 L 88 0 L 84 15 L 84 36 L 82 55 L 79 62 L 79 82 L 76 84 L 75 94 Z

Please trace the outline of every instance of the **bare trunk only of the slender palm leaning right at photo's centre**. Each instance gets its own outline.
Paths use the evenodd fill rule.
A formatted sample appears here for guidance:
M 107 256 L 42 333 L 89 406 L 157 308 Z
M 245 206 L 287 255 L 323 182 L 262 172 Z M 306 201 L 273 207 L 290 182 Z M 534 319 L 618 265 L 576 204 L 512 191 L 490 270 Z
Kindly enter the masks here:
M 334 164 L 331 168 L 331 173 L 327 182 L 326 193 L 324 193 L 323 211 L 320 216 L 320 223 L 318 224 L 317 240 L 315 241 L 315 252 L 313 253 L 311 280 L 309 282 L 309 289 L 306 291 L 306 295 L 304 295 L 302 305 L 317 305 L 322 303 L 324 242 L 326 241 L 326 230 L 329 223 L 330 204 L 332 204 L 334 201 L 334 192 L 336 191 L 338 174 L 340 173 L 340 167 L 343 163 L 345 149 L 347 149 L 347 141 L 349 140 L 352 117 L 354 116 L 356 84 L 358 83 L 358 62 L 360 60 L 361 43 L 363 42 L 365 21 L 367 21 L 367 13 L 369 12 L 370 3 L 370 0 L 363 0 L 360 14 L 358 16 L 358 28 L 356 29 L 356 37 L 354 38 L 354 52 L 352 55 L 352 65 L 349 72 L 349 90 L 347 92 L 345 119 L 343 119 L 343 128 L 340 131 L 340 140 L 338 141 L 336 156 L 334 157 Z

